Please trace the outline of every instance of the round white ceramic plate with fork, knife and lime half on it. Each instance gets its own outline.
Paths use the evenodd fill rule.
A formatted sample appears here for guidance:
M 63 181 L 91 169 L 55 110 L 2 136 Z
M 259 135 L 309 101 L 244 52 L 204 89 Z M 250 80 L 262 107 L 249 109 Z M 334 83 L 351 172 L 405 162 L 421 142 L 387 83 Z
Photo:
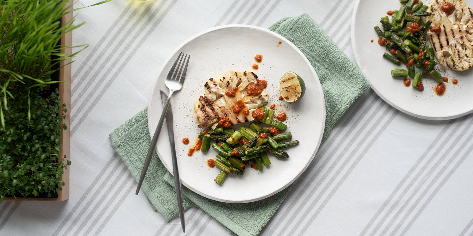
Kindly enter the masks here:
M 276 44 L 281 41 L 280 47 Z M 181 183 L 194 192 L 220 202 L 253 202 L 278 193 L 307 168 L 314 159 L 325 123 L 325 102 L 322 87 L 314 68 L 304 54 L 291 42 L 267 29 L 249 25 L 224 25 L 208 29 L 184 42 L 168 59 L 162 68 L 152 92 L 148 106 L 149 133 L 153 136 L 162 111 L 159 90 L 168 93 L 164 82 L 166 75 L 179 52 L 191 55 L 184 87 L 171 99 L 174 112 L 175 141 Z M 258 70 L 251 66 L 255 54 L 262 54 L 263 61 Z M 298 146 L 287 149 L 290 158 L 280 160 L 269 154 L 271 165 L 260 172 L 246 167 L 243 176 L 228 175 L 223 185 L 214 182 L 219 173 L 217 167 L 210 169 L 206 160 L 218 154 L 212 148 L 209 152 L 195 152 L 187 156 L 189 146 L 195 136 L 202 131 L 193 114 L 193 103 L 203 94 L 204 83 L 211 77 L 228 70 L 254 71 L 260 78 L 268 81 L 266 90 L 270 94 L 269 104 L 278 104 L 279 114 L 285 111 L 285 122 Z M 294 71 L 306 83 L 306 94 L 292 104 L 279 101 L 278 83 L 280 76 Z M 246 124 L 248 125 L 248 124 Z M 189 137 L 191 143 L 184 145 L 181 140 Z M 172 162 L 166 126 L 158 139 L 159 158 L 172 173 Z

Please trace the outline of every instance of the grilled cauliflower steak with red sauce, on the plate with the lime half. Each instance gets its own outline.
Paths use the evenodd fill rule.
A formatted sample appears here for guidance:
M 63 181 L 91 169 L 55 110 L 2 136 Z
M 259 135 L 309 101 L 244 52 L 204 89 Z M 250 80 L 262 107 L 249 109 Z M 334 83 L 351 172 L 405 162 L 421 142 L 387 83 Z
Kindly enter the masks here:
M 253 96 L 246 92 L 250 84 L 258 84 L 260 80 L 253 72 L 238 72 L 229 70 L 215 78 L 210 78 L 204 84 L 204 94 L 194 102 L 194 114 L 201 125 L 210 125 L 216 122 L 219 117 L 226 117 L 232 125 L 254 120 L 253 110 L 262 107 L 269 98 L 269 94 L 263 89 L 261 94 Z M 254 85 L 253 85 L 254 86 Z M 226 92 L 236 87 L 234 94 Z M 234 96 L 232 96 L 234 95 Z M 234 113 L 236 103 L 241 105 L 241 100 L 245 104 L 248 112 Z M 247 113 L 245 115 L 244 113 Z

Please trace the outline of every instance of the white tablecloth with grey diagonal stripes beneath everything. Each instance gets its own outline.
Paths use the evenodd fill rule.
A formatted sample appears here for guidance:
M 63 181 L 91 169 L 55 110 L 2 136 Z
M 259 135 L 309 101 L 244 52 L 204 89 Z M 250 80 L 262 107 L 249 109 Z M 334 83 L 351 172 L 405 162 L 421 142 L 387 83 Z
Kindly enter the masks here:
M 97 1 L 80 0 L 76 8 Z M 87 24 L 74 31 L 74 45 L 90 46 L 72 66 L 70 199 L 1 202 L 0 235 L 184 235 L 178 219 L 166 223 L 143 194 L 135 196 L 136 183 L 108 134 L 146 107 L 162 63 L 193 34 L 225 24 L 268 27 L 308 13 L 353 59 L 354 4 L 114 0 L 76 12 L 76 23 Z M 368 90 L 333 128 L 261 235 L 473 235 L 472 121 L 472 115 L 413 118 Z M 185 235 L 228 235 L 195 207 L 185 217 Z

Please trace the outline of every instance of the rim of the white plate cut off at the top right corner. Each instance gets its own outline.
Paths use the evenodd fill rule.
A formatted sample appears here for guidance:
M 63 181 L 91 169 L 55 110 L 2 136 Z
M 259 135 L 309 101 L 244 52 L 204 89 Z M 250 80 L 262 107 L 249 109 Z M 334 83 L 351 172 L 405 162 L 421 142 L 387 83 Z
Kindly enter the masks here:
M 397 106 L 396 104 L 394 104 L 394 102 L 388 100 L 385 96 L 383 96 L 383 94 L 382 94 L 381 92 L 379 92 L 375 86 L 373 86 L 373 84 L 371 83 L 369 77 L 366 76 L 365 70 L 364 70 L 363 67 L 361 67 L 361 65 L 360 65 L 359 51 L 358 51 L 357 45 L 356 45 L 356 43 L 355 43 L 355 22 L 356 22 L 357 12 L 358 12 L 358 7 L 359 7 L 359 3 L 360 3 L 360 2 L 361 2 L 361 0 L 357 0 L 357 2 L 355 3 L 355 6 L 354 6 L 354 8 L 353 8 L 352 17 L 351 17 L 351 26 L 350 26 L 350 31 L 351 31 L 351 33 L 350 33 L 350 34 L 351 34 L 351 48 L 352 48 L 352 50 L 353 50 L 353 56 L 355 57 L 355 61 L 356 61 L 357 66 L 358 66 L 359 69 L 361 70 L 361 73 L 363 73 L 363 75 L 365 76 L 365 78 L 368 80 L 369 84 L 371 85 L 370 87 L 375 91 L 375 93 L 376 93 L 379 97 L 381 97 L 385 102 L 387 102 L 389 105 L 391 105 L 391 106 L 394 107 L 395 109 L 400 110 L 400 111 L 402 111 L 403 113 L 405 113 L 405 114 L 407 114 L 407 115 L 413 116 L 413 117 L 415 117 L 415 118 L 420 118 L 420 119 L 427 119 L 427 120 L 450 120 L 450 119 L 455 119 L 455 118 L 463 117 L 463 116 L 468 115 L 468 114 L 471 114 L 471 113 L 473 112 L 473 108 L 472 108 L 472 109 L 469 110 L 469 111 L 461 112 L 461 113 L 458 113 L 458 114 L 454 114 L 454 115 L 450 115 L 450 116 L 445 116 L 445 117 L 423 116 L 423 115 L 420 115 L 420 114 L 417 114 L 417 113 L 414 113 L 414 112 L 405 110 L 405 109 L 401 108 L 400 106 Z

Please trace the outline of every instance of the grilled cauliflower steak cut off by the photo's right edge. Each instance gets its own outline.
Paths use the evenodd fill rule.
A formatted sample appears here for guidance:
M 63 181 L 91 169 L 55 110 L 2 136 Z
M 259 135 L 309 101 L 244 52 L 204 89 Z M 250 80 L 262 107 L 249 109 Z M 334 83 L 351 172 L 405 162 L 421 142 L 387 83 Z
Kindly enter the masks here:
M 455 6 L 452 14 L 442 11 L 442 3 Z M 464 71 L 473 65 L 473 11 L 463 0 L 434 0 L 427 10 L 433 13 L 424 17 L 424 22 L 431 20 L 427 34 L 437 59 L 443 66 Z M 439 34 L 432 26 L 440 26 Z M 438 31 L 437 31 L 438 33 Z

